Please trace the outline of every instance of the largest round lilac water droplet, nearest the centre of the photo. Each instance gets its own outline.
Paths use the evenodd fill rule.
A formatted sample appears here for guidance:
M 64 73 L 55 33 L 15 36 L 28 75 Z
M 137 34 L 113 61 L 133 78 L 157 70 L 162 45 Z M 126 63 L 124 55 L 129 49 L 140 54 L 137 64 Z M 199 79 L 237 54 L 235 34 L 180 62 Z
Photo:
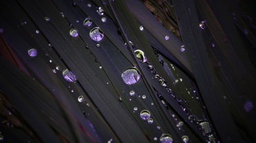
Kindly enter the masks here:
M 121 77 L 126 84 L 134 84 L 140 79 L 139 71 L 135 68 L 128 68 L 123 71 Z

